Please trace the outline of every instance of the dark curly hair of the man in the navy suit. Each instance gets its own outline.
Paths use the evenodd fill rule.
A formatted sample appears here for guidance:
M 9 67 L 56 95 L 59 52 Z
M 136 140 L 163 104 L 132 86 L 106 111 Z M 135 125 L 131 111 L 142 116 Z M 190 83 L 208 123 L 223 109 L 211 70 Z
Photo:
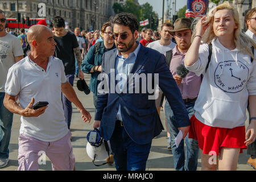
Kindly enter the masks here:
M 111 27 L 114 24 L 122 24 L 123 26 L 130 27 L 132 33 L 139 30 L 139 22 L 137 18 L 131 13 L 119 13 L 110 18 Z

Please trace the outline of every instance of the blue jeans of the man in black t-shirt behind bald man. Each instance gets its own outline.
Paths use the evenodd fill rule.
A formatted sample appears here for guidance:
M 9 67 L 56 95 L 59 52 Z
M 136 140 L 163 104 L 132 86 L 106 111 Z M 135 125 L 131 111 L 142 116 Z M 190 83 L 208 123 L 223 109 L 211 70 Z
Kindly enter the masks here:
M 73 86 L 74 84 L 74 75 L 66 75 L 68 82 Z M 68 129 L 70 129 L 71 124 L 71 117 L 72 117 L 72 103 L 67 99 L 67 97 L 62 94 L 62 102 L 63 102 L 63 109 L 65 115 L 65 122 L 68 124 Z

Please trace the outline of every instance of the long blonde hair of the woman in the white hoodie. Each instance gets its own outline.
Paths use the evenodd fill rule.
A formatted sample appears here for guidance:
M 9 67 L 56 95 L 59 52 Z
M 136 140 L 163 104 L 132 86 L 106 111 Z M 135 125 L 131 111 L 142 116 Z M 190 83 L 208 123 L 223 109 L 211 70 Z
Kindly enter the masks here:
M 237 25 L 237 28 L 234 30 L 234 43 L 236 47 L 240 50 L 240 52 L 246 55 L 250 55 L 251 57 L 254 58 L 253 52 L 251 51 L 251 47 L 253 46 L 254 48 L 256 48 L 256 43 L 254 42 L 253 39 L 249 38 L 249 36 L 243 34 L 243 32 L 241 31 L 241 23 L 240 23 L 238 11 L 228 1 L 225 1 L 221 5 L 218 5 L 214 7 L 214 9 L 209 11 L 207 15 L 207 22 L 209 23 L 209 27 L 207 28 L 204 35 L 202 36 L 203 43 L 209 44 L 210 41 L 213 40 L 213 38 L 217 37 L 213 31 L 214 14 L 218 10 L 224 10 L 224 9 L 228 9 L 232 11 L 234 22 Z M 195 38 L 195 34 L 196 34 L 196 30 L 193 31 L 192 41 L 193 41 L 193 38 Z

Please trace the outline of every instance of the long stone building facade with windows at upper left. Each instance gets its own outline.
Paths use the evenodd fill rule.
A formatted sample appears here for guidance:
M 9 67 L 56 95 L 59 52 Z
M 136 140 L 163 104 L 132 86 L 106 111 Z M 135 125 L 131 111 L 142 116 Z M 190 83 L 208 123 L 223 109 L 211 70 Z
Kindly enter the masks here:
M 27 0 L 18 1 L 18 11 L 30 18 L 39 18 L 38 4 L 46 5 L 46 16 L 51 22 L 54 16 L 61 16 L 69 27 L 81 27 L 83 30 L 97 30 L 114 14 L 114 0 Z M 17 1 L 1 0 L 0 9 L 5 11 L 7 18 L 16 18 Z

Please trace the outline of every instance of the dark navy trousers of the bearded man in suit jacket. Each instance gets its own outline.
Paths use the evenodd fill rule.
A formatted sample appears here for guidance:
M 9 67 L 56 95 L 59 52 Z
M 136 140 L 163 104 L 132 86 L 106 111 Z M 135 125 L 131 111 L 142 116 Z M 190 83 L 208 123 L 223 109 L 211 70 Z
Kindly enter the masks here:
M 116 124 L 110 145 L 117 171 L 144 171 L 146 169 L 151 142 L 147 144 L 133 142 L 124 127 Z

